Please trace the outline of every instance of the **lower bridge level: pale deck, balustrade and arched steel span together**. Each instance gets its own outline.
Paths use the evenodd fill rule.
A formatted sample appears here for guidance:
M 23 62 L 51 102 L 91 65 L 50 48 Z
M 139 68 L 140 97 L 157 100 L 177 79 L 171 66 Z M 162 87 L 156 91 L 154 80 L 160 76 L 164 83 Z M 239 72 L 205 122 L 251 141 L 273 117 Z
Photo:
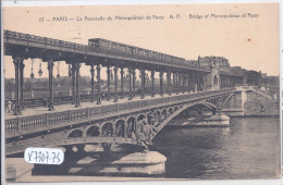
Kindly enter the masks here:
M 137 122 L 146 119 L 151 123 L 152 139 L 162 127 L 182 111 L 204 107 L 213 113 L 231 96 L 241 92 L 235 88 L 197 94 L 155 97 L 144 100 L 85 103 L 70 109 L 58 106 L 58 111 L 26 109 L 22 115 L 5 115 L 7 153 L 23 152 L 27 147 L 56 147 L 85 144 L 140 145 Z M 155 121 L 153 121 L 153 120 Z

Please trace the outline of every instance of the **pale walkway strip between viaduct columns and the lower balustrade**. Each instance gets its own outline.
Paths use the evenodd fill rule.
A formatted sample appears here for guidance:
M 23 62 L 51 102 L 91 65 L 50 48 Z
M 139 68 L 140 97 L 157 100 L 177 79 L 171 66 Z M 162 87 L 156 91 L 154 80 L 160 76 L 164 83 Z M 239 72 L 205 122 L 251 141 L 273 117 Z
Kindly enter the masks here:
M 172 94 L 171 97 L 180 96 L 180 95 L 188 95 L 188 92 L 177 94 L 177 95 Z M 169 97 L 169 95 L 163 95 L 162 97 Z M 144 100 L 156 99 L 156 98 L 161 98 L 161 96 L 160 95 L 156 95 L 155 97 L 145 96 Z M 79 108 L 94 108 L 94 107 L 109 106 L 109 104 L 115 104 L 115 103 L 124 103 L 124 102 L 130 102 L 130 101 L 135 101 L 135 100 L 140 100 L 140 96 L 136 96 L 132 100 L 128 100 L 128 98 L 125 96 L 125 98 L 119 99 L 118 102 L 113 102 L 113 99 L 110 99 L 109 101 L 104 100 L 104 101 L 102 101 L 101 104 L 97 104 L 96 101 L 81 102 Z M 33 115 L 38 115 L 38 114 L 47 114 L 47 113 L 54 113 L 54 112 L 62 112 L 62 111 L 67 111 L 67 110 L 79 109 L 79 108 L 75 108 L 75 104 L 71 104 L 71 103 L 58 104 L 54 108 L 56 108 L 56 110 L 53 110 L 53 111 L 48 111 L 47 107 L 46 108 L 45 107 L 26 108 L 25 110 L 22 111 L 21 115 L 13 115 L 13 112 L 10 112 L 10 113 L 5 112 L 4 116 L 5 116 L 5 120 L 9 120 L 9 119 L 15 119 L 15 118 L 22 118 L 22 116 L 33 116 Z

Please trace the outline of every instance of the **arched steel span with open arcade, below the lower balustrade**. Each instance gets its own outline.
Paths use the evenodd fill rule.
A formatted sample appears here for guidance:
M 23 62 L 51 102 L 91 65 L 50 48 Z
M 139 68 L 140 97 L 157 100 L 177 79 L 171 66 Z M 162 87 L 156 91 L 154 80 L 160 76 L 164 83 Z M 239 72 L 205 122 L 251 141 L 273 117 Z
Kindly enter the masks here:
M 152 124 L 155 132 L 151 133 L 150 140 L 167 125 L 172 119 L 177 116 L 186 109 L 202 106 L 213 111 L 219 111 L 221 102 L 225 102 L 230 95 L 235 94 L 235 90 L 226 91 L 225 94 L 218 94 L 213 96 L 205 96 L 198 98 L 190 98 L 187 101 L 177 99 L 173 103 L 165 103 L 159 106 L 147 107 L 144 110 L 133 110 L 123 114 L 111 114 L 111 116 L 103 116 L 97 121 L 77 120 L 74 125 L 65 125 L 60 128 L 45 130 L 37 132 L 34 135 L 19 135 L 7 139 L 7 153 L 12 155 L 23 152 L 26 147 L 56 147 L 56 146 L 82 146 L 86 144 L 130 144 L 140 145 L 138 143 L 137 122 L 146 119 Z M 219 98 L 222 97 L 222 98 Z M 220 102 L 218 102 L 220 101 Z M 84 112 L 84 111 L 83 111 Z M 82 114 L 84 115 L 84 114 Z M 151 123 L 152 122 L 152 123 Z M 79 147 L 78 147 L 79 148 Z M 82 148 L 82 147 L 81 147 Z

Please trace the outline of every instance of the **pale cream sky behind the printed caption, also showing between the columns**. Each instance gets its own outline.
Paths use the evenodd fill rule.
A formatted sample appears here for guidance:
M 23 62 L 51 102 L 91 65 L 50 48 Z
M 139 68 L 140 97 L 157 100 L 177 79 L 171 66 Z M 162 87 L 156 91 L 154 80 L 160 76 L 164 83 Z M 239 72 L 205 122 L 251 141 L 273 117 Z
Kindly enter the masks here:
M 223 18 L 212 14 L 239 17 Z M 128 21 L 115 18 L 118 16 L 144 18 Z M 231 66 L 279 75 L 278 3 L 4 8 L 3 27 L 84 45 L 89 38 L 104 38 L 186 60 L 219 55 L 229 59 Z M 32 60 L 24 63 L 24 75 L 28 77 Z M 40 59 L 34 59 L 35 77 L 39 77 L 39 63 Z M 54 75 L 57 69 L 58 63 Z M 9 55 L 4 57 L 4 70 L 5 77 L 14 77 Z M 42 63 L 42 71 L 41 77 L 47 77 L 46 63 Z M 67 75 L 67 65 L 63 61 L 59 73 Z M 90 75 L 89 66 L 83 65 L 81 74 Z M 106 69 L 102 70 L 104 77 Z

